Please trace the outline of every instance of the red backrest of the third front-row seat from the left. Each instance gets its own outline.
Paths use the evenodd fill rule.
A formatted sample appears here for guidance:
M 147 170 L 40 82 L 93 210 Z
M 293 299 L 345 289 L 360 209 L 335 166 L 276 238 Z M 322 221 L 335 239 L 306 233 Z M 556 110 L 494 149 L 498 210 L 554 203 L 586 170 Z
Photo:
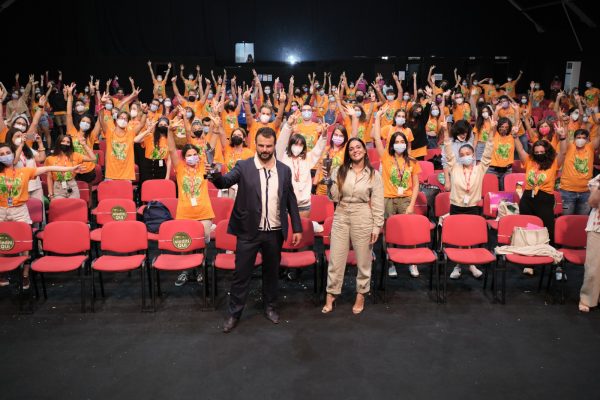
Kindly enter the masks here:
M 135 211 L 134 211 L 135 214 Z M 102 227 L 100 248 L 117 253 L 133 253 L 148 249 L 148 232 L 144 223 L 112 221 Z

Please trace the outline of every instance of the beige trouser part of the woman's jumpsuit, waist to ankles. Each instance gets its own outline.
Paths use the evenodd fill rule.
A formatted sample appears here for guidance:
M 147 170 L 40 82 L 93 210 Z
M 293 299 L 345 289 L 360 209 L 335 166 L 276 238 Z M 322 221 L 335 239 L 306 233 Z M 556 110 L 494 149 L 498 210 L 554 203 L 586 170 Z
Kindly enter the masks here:
M 338 204 L 331 227 L 331 247 L 327 273 L 327 293 L 338 295 L 342 291 L 350 243 L 356 254 L 358 272 L 356 291 L 368 293 L 371 288 L 373 265 L 373 216 L 367 203 Z

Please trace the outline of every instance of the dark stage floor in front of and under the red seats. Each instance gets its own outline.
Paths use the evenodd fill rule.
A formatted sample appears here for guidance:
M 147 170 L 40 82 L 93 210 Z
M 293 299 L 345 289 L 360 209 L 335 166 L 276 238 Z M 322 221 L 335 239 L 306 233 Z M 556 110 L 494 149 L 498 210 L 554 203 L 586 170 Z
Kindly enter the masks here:
M 163 277 L 155 314 L 140 313 L 138 274 L 105 278 L 95 314 L 79 312 L 68 277 L 48 280 L 33 315 L 17 315 L 3 288 L 0 398 L 600 398 L 600 313 L 577 311 L 581 270 L 569 273 L 560 305 L 512 269 L 504 306 L 466 275 L 438 305 L 427 274 L 400 271 L 390 302 L 370 301 L 360 316 L 351 313 L 353 275 L 330 315 L 312 303 L 310 271 L 302 284 L 282 281 L 278 326 L 261 314 L 255 279 L 229 335 L 225 302 L 201 311 L 197 284 L 176 288 L 175 275 Z

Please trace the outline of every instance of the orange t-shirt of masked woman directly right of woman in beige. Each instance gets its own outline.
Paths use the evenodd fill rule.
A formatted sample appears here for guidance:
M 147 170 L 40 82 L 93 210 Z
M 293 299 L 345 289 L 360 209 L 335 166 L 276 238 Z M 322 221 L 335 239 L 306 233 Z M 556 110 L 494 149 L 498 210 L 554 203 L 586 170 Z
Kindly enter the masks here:
M 419 175 L 421 167 L 415 160 L 391 156 L 386 148 L 381 156 L 381 175 L 383 179 L 383 196 L 388 199 L 410 197 L 413 193 L 413 178 Z

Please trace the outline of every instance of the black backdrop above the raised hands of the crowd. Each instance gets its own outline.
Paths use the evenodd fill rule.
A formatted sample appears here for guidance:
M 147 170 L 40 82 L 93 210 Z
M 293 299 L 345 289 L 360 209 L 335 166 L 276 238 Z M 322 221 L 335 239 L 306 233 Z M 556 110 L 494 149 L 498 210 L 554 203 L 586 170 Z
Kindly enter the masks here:
M 592 10 L 596 2 L 577 3 L 600 20 Z M 332 71 L 336 78 L 342 70 L 351 77 L 364 71 L 372 79 L 377 71 L 389 74 L 416 63 L 421 83 L 431 64 L 445 78 L 455 66 L 462 74 L 478 72 L 501 81 L 523 69 L 524 90 L 526 81 L 547 85 L 555 74 L 564 76 L 567 60 L 581 60 L 581 81 L 600 83 L 598 29 L 573 16 L 584 48 L 580 52 L 560 6 L 534 14 L 546 33 L 538 34 L 508 1 L 17 0 L 0 13 L 5 31 L 0 79 L 10 87 L 16 72 L 23 83 L 28 73 L 50 70 L 55 77 L 60 69 L 66 81 L 80 85 L 90 74 L 103 80 L 102 87 L 118 75 L 129 88 L 132 75 L 148 95 L 146 61 L 151 59 L 157 70 L 169 61 L 176 73 L 180 64 L 186 72 L 199 64 L 205 76 L 226 67 L 248 81 L 251 67 L 234 63 L 234 45 L 245 41 L 255 44 L 258 72 L 285 82 L 291 74 L 304 81 L 313 70 L 319 77 Z M 290 55 L 300 63 L 287 64 Z M 409 56 L 421 58 L 409 61 Z

